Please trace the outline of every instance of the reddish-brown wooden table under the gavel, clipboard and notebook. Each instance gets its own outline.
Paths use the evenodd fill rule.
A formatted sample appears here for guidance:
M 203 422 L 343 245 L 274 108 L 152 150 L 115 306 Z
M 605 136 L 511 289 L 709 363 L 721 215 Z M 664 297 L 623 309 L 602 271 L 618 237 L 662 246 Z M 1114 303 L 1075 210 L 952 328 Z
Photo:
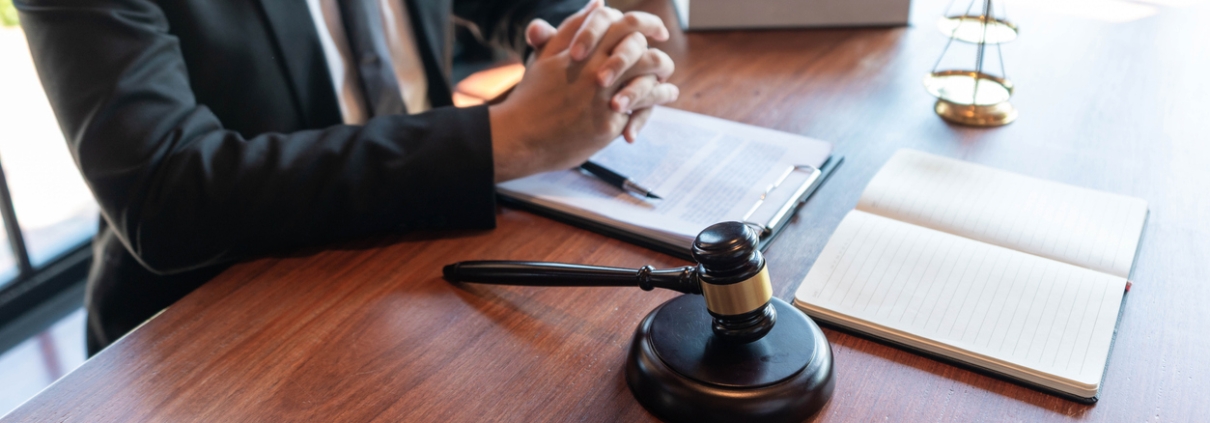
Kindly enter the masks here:
M 1012 6 L 1022 33 L 1003 53 L 1021 115 L 997 129 L 933 115 L 921 79 L 945 45 L 934 25 L 941 0 L 916 1 L 910 28 L 674 30 L 661 47 L 679 68 L 676 108 L 830 140 L 847 158 L 767 254 L 782 299 L 899 147 L 1150 202 L 1099 404 L 828 330 L 836 392 L 817 419 L 1204 421 L 1210 5 L 1068 10 L 1156 12 L 1119 23 Z M 672 16 L 664 1 L 639 7 Z M 957 58 L 973 62 L 973 50 Z M 502 209 L 499 222 L 489 232 L 370 239 L 238 265 L 6 421 L 652 419 L 622 370 L 635 325 L 673 294 L 457 288 L 440 267 L 684 262 L 517 210 Z

